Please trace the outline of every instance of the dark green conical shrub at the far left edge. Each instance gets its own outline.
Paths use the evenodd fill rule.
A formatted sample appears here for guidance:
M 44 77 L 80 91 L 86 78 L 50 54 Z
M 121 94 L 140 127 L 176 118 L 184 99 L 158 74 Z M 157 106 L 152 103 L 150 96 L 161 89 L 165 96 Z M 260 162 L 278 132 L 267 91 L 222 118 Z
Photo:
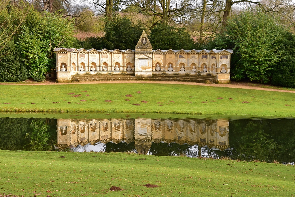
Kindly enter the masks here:
M 26 79 L 26 66 L 19 60 L 19 54 L 12 39 L 0 54 L 0 81 L 19 82 Z

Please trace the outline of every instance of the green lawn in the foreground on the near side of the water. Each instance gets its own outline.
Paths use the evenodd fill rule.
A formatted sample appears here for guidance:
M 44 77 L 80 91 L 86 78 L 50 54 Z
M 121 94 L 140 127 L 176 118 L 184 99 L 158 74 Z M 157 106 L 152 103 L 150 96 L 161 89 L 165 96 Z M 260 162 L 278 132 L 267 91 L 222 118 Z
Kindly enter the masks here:
M 295 195 L 291 165 L 95 152 L 0 151 L 0 158 L 1 193 L 25 197 Z

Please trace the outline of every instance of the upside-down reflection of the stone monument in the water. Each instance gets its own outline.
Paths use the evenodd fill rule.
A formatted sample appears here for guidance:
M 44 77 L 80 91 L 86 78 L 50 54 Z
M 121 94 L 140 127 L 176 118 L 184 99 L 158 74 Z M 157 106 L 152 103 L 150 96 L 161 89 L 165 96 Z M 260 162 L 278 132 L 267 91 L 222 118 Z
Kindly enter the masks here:
M 72 148 L 97 142 L 135 141 L 137 152 L 147 154 L 152 142 L 229 147 L 226 119 L 58 119 L 56 148 Z

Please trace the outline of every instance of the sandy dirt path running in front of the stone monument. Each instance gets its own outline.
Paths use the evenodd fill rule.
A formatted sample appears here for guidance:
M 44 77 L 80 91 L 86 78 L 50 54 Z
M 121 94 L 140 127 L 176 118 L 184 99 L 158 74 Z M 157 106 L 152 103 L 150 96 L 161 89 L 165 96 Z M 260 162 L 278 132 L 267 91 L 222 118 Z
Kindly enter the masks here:
M 291 92 L 295 93 L 292 90 L 285 89 L 274 89 L 278 88 L 275 86 L 261 85 L 257 83 L 249 82 L 232 82 L 231 84 L 202 84 L 195 82 L 171 82 L 171 81 L 100 81 L 100 82 L 75 82 L 75 83 L 56 83 L 53 80 L 48 80 L 45 82 L 32 82 L 27 80 L 24 83 L 0 83 L 0 85 L 64 85 L 64 84 L 114 84 L 114 83 L 148 83 L 148 84 L 185 84 L 185 85 L 199 85 L 199 86 L 214 86 L 214 87 L 230 87 L 230 88 L 241 88 L 241 89 L 257 89 L 257 90 L 266 90 L 273 92 Z M 260 86 L 260 87 L 259 87 Z M 263 87 L 261 87 L 263 86 Z M 269 88 L 266 88 L 269 87 Z

